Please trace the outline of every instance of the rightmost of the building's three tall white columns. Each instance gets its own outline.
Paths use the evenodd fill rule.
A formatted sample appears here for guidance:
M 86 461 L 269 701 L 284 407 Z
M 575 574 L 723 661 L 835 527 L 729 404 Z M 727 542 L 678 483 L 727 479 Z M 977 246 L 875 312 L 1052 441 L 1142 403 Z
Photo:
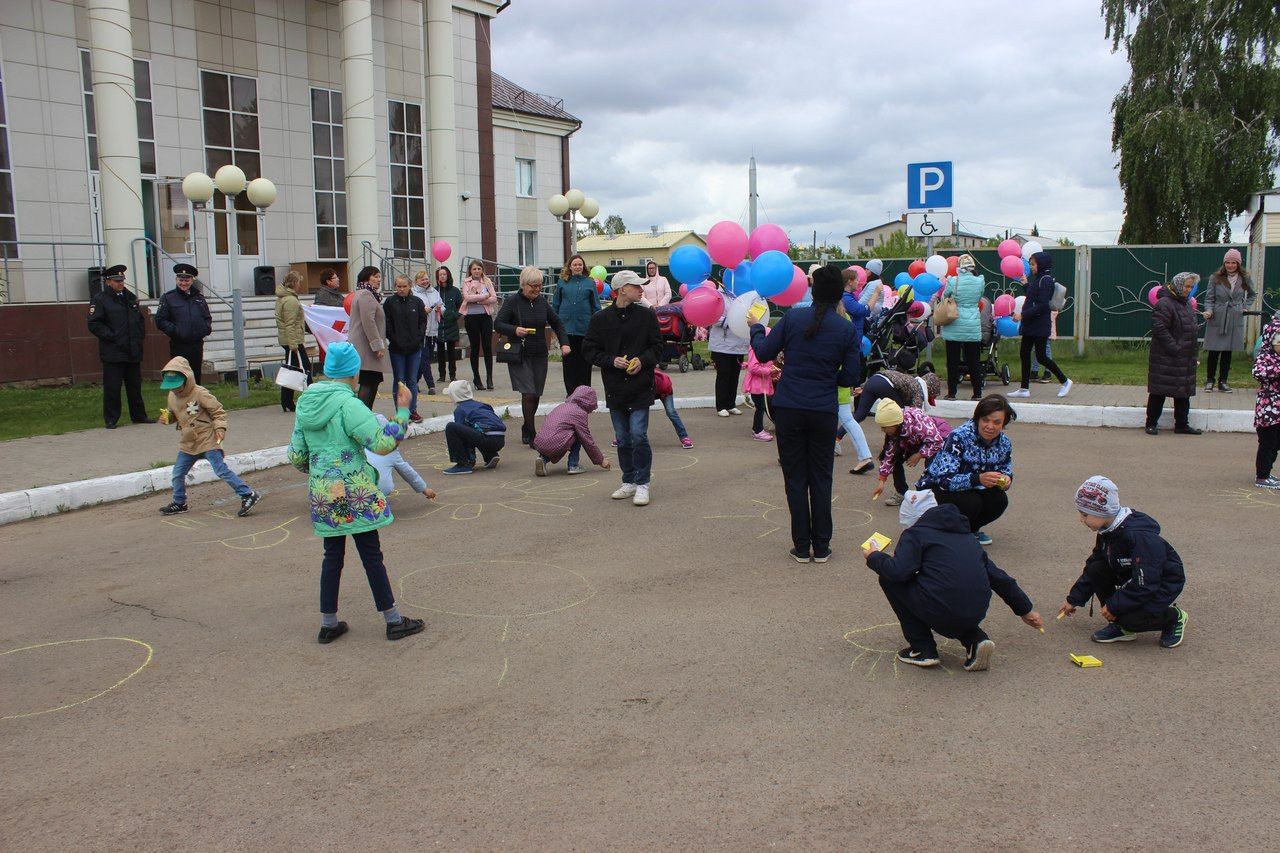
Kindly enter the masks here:
M 426 0 L 426 202 L 431 233 L 428 246 L 447 240 L 454 264 L 462 263 L 458 245 L 458 151 L 453 102 L 453 1 Z

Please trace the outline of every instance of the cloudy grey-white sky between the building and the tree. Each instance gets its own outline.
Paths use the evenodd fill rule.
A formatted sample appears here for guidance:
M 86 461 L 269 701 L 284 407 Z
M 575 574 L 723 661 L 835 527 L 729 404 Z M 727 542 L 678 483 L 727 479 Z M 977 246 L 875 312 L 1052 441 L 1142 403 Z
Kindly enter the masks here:
M 515 0 L 494 69 L 582 119 L 573 184 L 649 225 L 760 222 L 795 242 L 904 209 L 906 164 L 955 163 L 955 211 L 1114 242 L 1111 99 L 1128 78 L 1097 0 Z

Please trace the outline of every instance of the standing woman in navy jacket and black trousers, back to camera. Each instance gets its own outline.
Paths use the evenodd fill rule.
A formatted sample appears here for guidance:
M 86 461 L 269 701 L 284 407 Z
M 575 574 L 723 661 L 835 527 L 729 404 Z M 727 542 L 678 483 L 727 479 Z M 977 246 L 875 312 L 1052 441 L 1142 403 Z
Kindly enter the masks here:
M 852 324 L 836 313 L 842 293 L 840 269 L 819 266 L 813 273 L 813 305 L 788 310 L 769 334 L 759 323 L 751 325 L 756 359 L 786 355 L 772 410 L 796 562 L 831 557 L 836 386 L 855 384 L 859 356 Z

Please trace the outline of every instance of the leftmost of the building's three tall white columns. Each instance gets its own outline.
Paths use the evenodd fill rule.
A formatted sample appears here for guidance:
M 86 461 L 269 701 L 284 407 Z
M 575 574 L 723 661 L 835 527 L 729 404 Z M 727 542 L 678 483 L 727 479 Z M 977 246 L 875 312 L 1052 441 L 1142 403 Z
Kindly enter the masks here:
M 106 265 L 125 264 L 134 291 L 146 288 L 146 254 L 133 241 L 142 227 L 142 169 L 133 90 L 129 0 L 88 0 L 90 63 L 97 120 L 99 197 Z

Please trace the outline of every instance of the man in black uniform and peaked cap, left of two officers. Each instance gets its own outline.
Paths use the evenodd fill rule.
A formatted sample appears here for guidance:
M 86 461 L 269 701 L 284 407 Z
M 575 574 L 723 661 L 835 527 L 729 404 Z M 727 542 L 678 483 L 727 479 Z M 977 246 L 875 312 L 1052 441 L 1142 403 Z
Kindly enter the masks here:
M 124 287 L 128 268 L 116 264 L 106 270 L 106 287 L 88 304 L 88 330 L 97 338 L 102 360 L 102 420 L 115 429 L 120 420 L 120 383 L 129 400 L 129 418 L 146 424 L 147 405 L 142 400 L 142 342 L 146 325 L 138 297 Z

